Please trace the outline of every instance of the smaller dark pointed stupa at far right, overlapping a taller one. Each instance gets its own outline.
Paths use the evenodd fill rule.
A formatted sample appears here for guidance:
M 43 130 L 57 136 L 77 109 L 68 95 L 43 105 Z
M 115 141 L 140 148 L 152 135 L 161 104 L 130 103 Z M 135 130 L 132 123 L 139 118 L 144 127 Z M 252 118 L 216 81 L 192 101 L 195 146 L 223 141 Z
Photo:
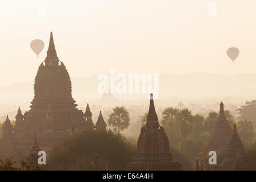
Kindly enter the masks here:
M 245 154 L 245 148 L 241 142 L 241 139 L 237 133 L 237 125 L 236 123 L 233 126 L 232 137 L 230 138 L 228 150 L 226 150 L 226 157 L 223 160 L 223 168 L 226 170 L 232 170 L 234 164 L 237 161 L 238 151 L 241 151 L 241 156 Z

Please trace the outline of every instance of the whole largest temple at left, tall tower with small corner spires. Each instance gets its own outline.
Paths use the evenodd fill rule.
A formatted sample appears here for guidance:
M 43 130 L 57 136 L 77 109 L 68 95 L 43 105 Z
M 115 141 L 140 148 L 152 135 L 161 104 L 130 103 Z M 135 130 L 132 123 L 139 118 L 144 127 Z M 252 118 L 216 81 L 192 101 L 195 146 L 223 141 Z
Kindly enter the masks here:
M 76 108 L 75 102 L 71 79 L 64 63 L 57 57 L 51 32 L 47 57 L 36 73 L 31 109 L 24 115 L 18 109 L 14 127 L 6 117 L 0 139 L 0 159 L 11 156 L 14 160 L 26 158 L 33 138 L 41 150 L 48 151 L 79 130 L 106 130 L 101 113 L 95 126 L 89 105 L 83 113 Z

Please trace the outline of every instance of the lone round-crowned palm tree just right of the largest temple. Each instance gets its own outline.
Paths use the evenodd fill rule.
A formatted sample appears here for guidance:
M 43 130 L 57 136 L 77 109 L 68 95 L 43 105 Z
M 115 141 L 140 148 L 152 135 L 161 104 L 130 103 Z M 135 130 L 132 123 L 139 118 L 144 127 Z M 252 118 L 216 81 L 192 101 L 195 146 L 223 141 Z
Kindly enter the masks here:
M 130 117 L 125 107 L 115 107 L 113 112 L 109 115 L 108 123 L 110 126 L 115 127 L 114 130 L 118 129 L 118 136 L 120 130 L 127 129 L 130 123 Z

